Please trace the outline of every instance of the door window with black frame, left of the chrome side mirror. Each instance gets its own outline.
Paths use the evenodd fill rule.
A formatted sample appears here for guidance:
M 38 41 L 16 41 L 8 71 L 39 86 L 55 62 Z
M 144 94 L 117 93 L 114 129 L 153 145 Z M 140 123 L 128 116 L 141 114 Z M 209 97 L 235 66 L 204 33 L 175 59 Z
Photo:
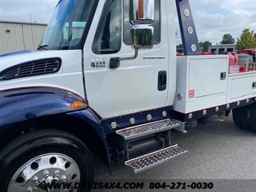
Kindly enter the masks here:
M 110 3 L 109 3 L 110 2 Z M 95 54 L 111 54 L 120 51 L 122 42 L 122 12 L 120 0 L 107 1 L 108 10 L 102 17 L 93 40 Z

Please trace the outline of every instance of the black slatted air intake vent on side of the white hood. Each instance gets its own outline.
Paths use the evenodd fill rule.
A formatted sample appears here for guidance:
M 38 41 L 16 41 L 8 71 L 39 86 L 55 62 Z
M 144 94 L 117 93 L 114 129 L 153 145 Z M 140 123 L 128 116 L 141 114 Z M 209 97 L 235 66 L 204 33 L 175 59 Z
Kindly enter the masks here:
M 1 73 L 3 80 L 40 76 L 44 74 L 56 73 L 60 70 L 60 58 L 51 58 L 45 60 L 29 61 L 14 67 L 8 68 Z

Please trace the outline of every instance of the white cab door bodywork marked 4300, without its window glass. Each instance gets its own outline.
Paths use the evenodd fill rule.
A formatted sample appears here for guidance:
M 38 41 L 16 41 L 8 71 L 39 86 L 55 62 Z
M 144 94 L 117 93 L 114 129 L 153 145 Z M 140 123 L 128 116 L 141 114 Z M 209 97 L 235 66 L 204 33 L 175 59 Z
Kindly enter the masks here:
M 163 20 L 166 20 L 165 13 L 162 14 Z M 163 36 L 167 33 L 167 25 L 162 23 Z M 153 49 L 140 50 L 136 60 L 121 61 L 120 67 L 111 69 L 110 58 L 130 57 L 134 55 L 134 50 L 122 42 L 121 50 L 116 54 L 94 54 L 92 43 L 95 31 L 96 27 L 90 30 L 84 47 L 86 94 L 90 106 L 102 118 L 166 106 L 168 87 L 159 91 L 157 84 L 159 71 L 165 70 L 168 77 L 168 42 L 162 40 Z M 106 61 L 106 67 L 93 68 L 91 63 L 95 60 Z

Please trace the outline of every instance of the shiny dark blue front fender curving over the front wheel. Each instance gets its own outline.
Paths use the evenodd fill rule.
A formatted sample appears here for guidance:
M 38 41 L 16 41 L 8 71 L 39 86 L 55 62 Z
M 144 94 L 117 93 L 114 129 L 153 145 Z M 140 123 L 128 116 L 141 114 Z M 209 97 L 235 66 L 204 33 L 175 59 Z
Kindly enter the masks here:
M 79 118 L 93 127 L 104 145 L 107 164 L 111 169 L 108 143 L 99 118 L 90 108 L 79 111 L 71 109 L 72 102 L 76 100 L 86 102 L 76 93 L 61 88 L 31 87 L 1 91 L 0 133 L 20 122 L 65 113 L 68 116 Z

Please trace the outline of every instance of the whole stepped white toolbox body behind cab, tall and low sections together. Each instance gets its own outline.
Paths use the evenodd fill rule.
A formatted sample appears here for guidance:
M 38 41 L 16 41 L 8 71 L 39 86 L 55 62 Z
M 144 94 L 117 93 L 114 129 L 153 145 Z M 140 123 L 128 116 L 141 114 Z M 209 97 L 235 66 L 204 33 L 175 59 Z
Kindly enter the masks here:
M 256 97 L 256 71 L 228 74 L 228 56 L 179 56 L 174 110 L 192 113 Z

